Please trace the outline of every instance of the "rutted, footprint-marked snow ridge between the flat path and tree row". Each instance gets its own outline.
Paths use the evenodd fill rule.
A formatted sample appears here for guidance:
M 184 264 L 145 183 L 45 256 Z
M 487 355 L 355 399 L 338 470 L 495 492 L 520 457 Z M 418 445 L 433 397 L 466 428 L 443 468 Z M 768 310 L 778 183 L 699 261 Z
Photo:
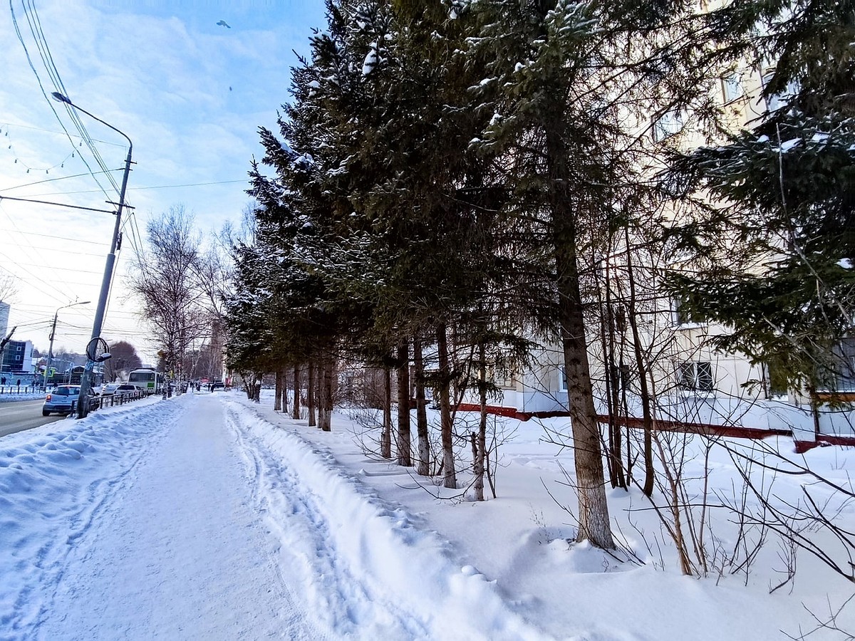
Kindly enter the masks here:
M 302 562 L 308 585 L 315 574 L 318 589 L 310 600 L 332 611 L 331 633 L 365 639 L 548 638 L 504 601 L 493 582 L 455 564 L 445 541 L 419 530 L 404 509 L 386 505 L 342 473 L 328 450 L 301 438 L 298 429 L 304 426 L 274 426 L 247 403 L 226 397 L 221 403 L 241 435 L 248 465 L 260 470 L 259 509 L 281 532 L 289 556 Z M 304 524 L 299 537 L 292 520 Z M 357 599 L 358 607 L 324 594 Z

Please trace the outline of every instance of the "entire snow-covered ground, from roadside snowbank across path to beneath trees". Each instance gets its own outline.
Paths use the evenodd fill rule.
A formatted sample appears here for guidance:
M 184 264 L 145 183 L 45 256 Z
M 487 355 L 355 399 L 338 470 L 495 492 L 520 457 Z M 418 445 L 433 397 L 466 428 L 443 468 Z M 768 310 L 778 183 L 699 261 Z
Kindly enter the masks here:
M 638 491 L 609 496 L 634 561 L 569 543 L 572 452 L 534 422 L 497 420 L 498 498 L 484 503 L 378 460 L 357 423 L 336 414 L 320 432 L 269 396 L 202 393 L 0 438 L 0 638 L 753 641 L 805 636 L 852 597 L 807 555 L 769 594 L 787 569 L 774 540 L 747 581 L 682 576 Z M 805 456 L 846 480 L 851 455 Z M 732 492 L 730 458 L 713 450 L 710 468 Z M 730 520 L 712 513 L 722 550 Z M 855 526 L 847 505 L 835 520 Z M 855 631 L 851 608 L 834 623 Z

